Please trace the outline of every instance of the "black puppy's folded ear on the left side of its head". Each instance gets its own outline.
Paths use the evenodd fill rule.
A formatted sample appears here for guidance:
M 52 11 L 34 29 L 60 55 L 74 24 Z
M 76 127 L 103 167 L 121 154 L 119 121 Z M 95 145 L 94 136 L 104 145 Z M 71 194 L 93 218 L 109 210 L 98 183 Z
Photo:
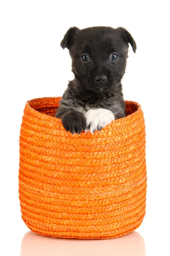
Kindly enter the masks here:
M 66 34 L 60 44 L 62 49 L 65 49 L 65 47 L 66 47 L 69 50 L 71 48 L 71 45 L 74 42 L 74 38 L 76 37 L 79 30 L 80 29 L 77 27 L 72 27 L 72 28 L 68 29 L 68 31 L 66 32 Z

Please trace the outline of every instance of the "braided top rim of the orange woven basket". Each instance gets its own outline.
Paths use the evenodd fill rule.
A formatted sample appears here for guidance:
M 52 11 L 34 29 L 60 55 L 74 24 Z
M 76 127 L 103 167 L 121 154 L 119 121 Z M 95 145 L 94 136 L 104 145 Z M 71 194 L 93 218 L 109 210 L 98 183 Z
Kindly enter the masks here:
M 38 113 L 39 114 L 39 116 L 44 116 L 44 117 L 46 117 L 46 118 L 48 118 L 48 121 L 50 121 L 50 122 L 53 122 L 53 123 L 60 123 L 60 124 L 62 124 L 62 122 L 61 122 L 61 119 L 60 118 L 57 118 L 57 117 L 54 117 L 54 116 L 48 116 L 47 114 L 45 114 L 45 113 L 41 113 L 41 112 L 39 112 L 39 111 L 37 111 L 36 109 L 34 109 L 34 108 L 32 108 L 31 106 L 30 106 L 30 103 L 31 102 L 35 102 L 35 101 L 44 101 L 44 100 L 60 100 L 62 98 L 62 96 L 58 96 L 58 97 L 41 97 L 41 98 L 34 98 L 34 99 L 30 99 L 30 100 L 27 100 L 26 101 L 26 107 L 28 108 L 28 109 L 30 109 L 31 111 L 33 111 L 34 113 Z M 139 103 L 137 103 L 137 102 L 134 102 L 134 101 L 130 101 L 130 100 L 125 100 L 125 103 L 126 104 L 133 104 L 133 105 L 136 105 L 137 106 L 137 110 L 135 111 L 135 112 L 133 112 L 133 113 L 131 113 L 131 114 L 129 114 L 129 115 L 127 115 L 127 116 L 125 116 L 125 117 L 122 117 L 122 118 L 119 118 L 119 119 L 116 119 L 116 120 L 113 120 L 110 124 L 109 124 L 109 126 L 111 125 L 113 125 L 113 124 L 118 124 L 118 123 L 120 123 L 122 120 L 126 120 L 126 121 L 128 121 L 129 119 L 131 119 L 132 118 L 132 116 L 136 116 L 136 115 L 138 115 L 138 113 L 140 112 L 140 111 L 142 111 L 142 107 L 141 107 L 141 105 L 139 104 Z M 120 125 L 121 126 L 121 125 Z M 108 129 L 108 125 L 106 125 L 103 129 Z

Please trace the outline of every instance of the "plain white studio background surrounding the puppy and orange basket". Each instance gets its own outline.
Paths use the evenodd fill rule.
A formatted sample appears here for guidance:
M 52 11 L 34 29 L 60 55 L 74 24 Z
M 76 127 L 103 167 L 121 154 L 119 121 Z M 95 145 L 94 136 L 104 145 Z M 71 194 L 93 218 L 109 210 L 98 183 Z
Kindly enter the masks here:
M 135 250 L 136 256 L 170 255 L 169 25 L 164 0 L 0 1 L 1 255 L 133 256 Z M 144 111 L 147 211 L 138 233 L 110 242 L 25 236 L 28 228 L 21 220 L 18 140 L 23 109 L 28 99 L 62 96 L 73 78 L 68 50 L 60 47 L 71 26 L 124 26 L 137 44 L 136 54 L 129 47 L 122 83 L 124 98 L 139 102 Z

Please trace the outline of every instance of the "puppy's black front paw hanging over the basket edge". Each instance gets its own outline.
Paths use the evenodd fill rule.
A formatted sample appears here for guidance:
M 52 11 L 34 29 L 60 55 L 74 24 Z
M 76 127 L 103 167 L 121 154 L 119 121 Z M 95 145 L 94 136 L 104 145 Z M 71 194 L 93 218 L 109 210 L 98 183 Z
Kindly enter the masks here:
M 70 131 L 72 134 L 81 134 L 82 131 L 85 131 L 85 116 L 78 111 L 68 111 L 64 113 L 61 121 L 65 130 Z

